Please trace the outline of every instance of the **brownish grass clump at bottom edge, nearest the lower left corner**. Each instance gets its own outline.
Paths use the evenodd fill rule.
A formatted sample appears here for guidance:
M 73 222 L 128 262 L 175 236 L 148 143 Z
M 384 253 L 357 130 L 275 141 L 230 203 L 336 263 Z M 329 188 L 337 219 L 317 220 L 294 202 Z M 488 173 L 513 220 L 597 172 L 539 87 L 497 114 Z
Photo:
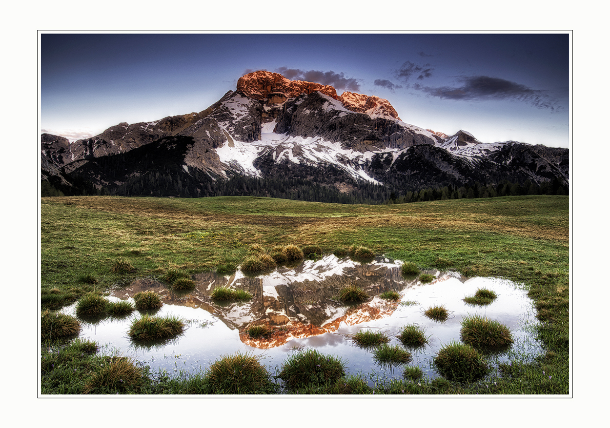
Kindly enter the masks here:
M 101 368 L 85 380 L 83 394 L 104 394 L 109 391 L 124 391 L 138 387 L 142 382 L 142 370 L 127 357 L 112 357 L 104 360 Z

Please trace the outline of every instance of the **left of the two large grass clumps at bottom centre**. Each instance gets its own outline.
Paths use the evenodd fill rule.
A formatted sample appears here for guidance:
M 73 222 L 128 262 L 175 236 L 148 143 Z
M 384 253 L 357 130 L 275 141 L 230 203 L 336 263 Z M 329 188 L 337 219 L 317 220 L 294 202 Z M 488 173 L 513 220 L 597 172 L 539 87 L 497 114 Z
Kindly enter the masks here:
M 273 394 L 278 389 L 253 355 L 225 355 L 210 365 L 206 377 L 212 394 Z

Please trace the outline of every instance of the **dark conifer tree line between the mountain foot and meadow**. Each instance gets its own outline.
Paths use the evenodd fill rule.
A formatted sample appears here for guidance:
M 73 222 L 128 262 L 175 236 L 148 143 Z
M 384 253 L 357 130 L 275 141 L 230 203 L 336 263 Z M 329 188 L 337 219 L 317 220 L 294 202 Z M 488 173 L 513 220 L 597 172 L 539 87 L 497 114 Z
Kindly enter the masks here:
M 371 182 L 348 184 L 349 191 L 340 191 L 332 184 L 320 184 L 303 178 L 246 177 L 235 174 L 229 179 L 210 177 L 202 171 L 187 173 L 180 169 L 161 168 L 127 179 L 117 187 L 96 187 L 84 177 L 70 177 L 72 185 L 41 182 L 41 196 L 117 195 L 175 196 L 203 198 L 206 196 L 267 196 L 298 201 L 337 204 L 406 204 L 443 199 L 495 198 L 524 194 L 569 194 L 567 185 L 555 179 L 540 184 L 526 180 L 515 183 L 503 180 L 498 184 L 479 182 L 445 185 L 420 190 L 405 190 L 400 184 L 379 185 Z

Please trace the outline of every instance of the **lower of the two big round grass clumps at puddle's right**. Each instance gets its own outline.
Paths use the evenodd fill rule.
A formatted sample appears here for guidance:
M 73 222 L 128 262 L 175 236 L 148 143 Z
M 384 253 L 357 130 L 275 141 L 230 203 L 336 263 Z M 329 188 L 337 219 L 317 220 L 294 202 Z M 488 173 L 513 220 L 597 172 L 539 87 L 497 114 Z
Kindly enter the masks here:
M 473 382 L 489 371 L 475 348 L 456 341 L 451 341 L 440 349 L 433 363 L 441 376 L 455 382 Z

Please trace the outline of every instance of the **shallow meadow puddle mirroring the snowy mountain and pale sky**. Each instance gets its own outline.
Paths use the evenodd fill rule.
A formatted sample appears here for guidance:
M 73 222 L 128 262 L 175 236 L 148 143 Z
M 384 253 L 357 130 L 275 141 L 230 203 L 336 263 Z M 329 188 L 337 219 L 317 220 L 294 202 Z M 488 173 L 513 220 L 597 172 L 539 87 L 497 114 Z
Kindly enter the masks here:
M 156 315 L 176 315 L 187 320 L 183 335 L 166 343 L 134 344 L 127 336 L 135 311 L 123 319 L 104 319 L 98 323 L 83 323 L 81 337 L 91 338 L 108 349 L 120 349 L 122 355 L 145 362 L 156 371 L 169 373 L 199 371 L 224 355 L 242 352 L 260 357 L 261 363 L 275 373 L 294 349 L 315 348 L 323 354 L 333 354 L 347 362 L 348 373 L 402 376 L 402 369 L 387 369 L 373 360 L 371 350 L 354 346 L 348 337 L 361 329 L 381 330 L 400 344 L 395 335 L 406 324 L 425 327 L 429 345 L 422 350 L 409 350 L 411 365 L 418 365 L 430 378 L 437 377 L 432 358 L 443 344 L 459 341 L 461 321 L 467 315 L 498 319 L 509 327 L 515 343 L 508 353 L 496 355 L 503 362 L 516 355 L 534 356 L 540 344 L 528 332 L 536 324 L 533 303 L 524 290 L 508 280 L 465 278 L 452 272 L 426 271 L 435 279 L 422 284 L 417 279 L 405 279 L 400 273 L 399 260 L 376 259 L 362 265 L 349 258 L 327 255 L 319 260 L 305 260 L 293 268 L 278 268 L 273 273 L 246 277 L 240 271 L 232 276 L 202 273 L 193 277 L 197 286 L 187 295 L 168 290 L 152 279 L 136 280 L 127 287 L 114 290 L 110 300 L 130 299 L 139 291 L 153 290 L 162 296 L 163 307 Z M 345 305 L 334 300 L 337 291 L 347 283 L 356 284 L 372 298 L 358 305 Z M 222 304 L 210 299 L 216 287 L 243 288 L 254 298 L 245 303 Z M 495 291 L 498 298 L 487 306 L 472 306 L 462 299 L 472 296 L 478 288 Z M 394 290 L 400 301 L 379 298 L 379 294 Z M 407 304 L 407 302 L 417 302 Z M 444 305 L 450 319 L 437 323 L 423 312 L 433 305 Z M 74 305 L 65 309 L 74 314 Z M 253 324 L 276 327 L 268 338 L 253 339 L 246 329 Z M 110 351 L 108 351 L 110 352 Z

